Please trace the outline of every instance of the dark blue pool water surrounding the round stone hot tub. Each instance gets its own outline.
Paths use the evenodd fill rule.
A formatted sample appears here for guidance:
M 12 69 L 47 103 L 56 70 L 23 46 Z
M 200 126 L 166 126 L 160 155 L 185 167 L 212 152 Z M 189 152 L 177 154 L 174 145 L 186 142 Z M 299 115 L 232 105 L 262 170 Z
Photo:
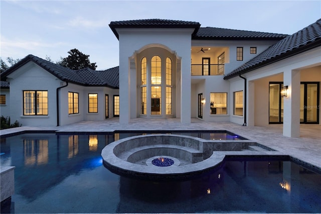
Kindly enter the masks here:
M 228 158 L 185 181 L 113 174 L 102 165 L 101 150 L 129 135 L 2 139 L 1 166 L 16 166 L 12 212 L 321 212 L 321 174 L 285 157 Z

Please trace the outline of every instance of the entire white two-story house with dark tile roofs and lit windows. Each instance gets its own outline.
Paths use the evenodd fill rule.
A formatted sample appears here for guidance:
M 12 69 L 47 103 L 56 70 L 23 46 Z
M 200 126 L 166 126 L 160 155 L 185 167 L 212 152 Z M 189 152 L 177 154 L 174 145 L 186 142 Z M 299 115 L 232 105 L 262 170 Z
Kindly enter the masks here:
M 133 118 L 180 118 L 183 124 L 199 118 L 283 124 L 288 137 L 299 137 L 300 124 L 319 125 L 321 20 L 293 35 L 159 19 L 109 27 L 119 40 L 119 67 L 72 71 L 29 55 L 2 73 L 10 83 L 12 120 L 59 126 L 115 116 L 123 124 Z M 48 114 L 28 115 L 26 91 L 46 90 Z

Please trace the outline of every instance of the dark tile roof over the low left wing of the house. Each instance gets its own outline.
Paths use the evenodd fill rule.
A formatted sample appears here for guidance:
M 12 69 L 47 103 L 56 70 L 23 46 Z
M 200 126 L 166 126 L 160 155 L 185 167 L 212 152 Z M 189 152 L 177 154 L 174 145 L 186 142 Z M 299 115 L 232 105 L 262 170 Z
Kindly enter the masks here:
M 1 79 L 5 80 L 7 76 L 15 70 L 25 65 L 28 62 L 34 62 L 52 75 L 56 76 L 62 81 L 84 85 L 84 86 L 106 86 L 111 88 L 119 88 L 119 79 L 111 79 L 108 74 L 113 78 L 118 77 L 119 67 L 107 69 L 105 71 L 95 71 L 90 68 L 80 70 L 71 70 L 69 68 L 57 65 L 34 55 L 28 55 L 18 63 L 7 69 L 1 74 Z M 103 73 L 104 75 L 101 75 Z

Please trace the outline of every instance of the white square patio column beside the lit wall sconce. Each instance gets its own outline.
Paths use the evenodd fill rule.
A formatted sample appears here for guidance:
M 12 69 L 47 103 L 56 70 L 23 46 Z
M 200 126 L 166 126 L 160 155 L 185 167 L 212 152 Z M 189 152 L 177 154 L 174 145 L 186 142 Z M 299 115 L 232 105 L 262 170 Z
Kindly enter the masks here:
M 298 138 L 300 137 L 300 71 L 284 71 L 283 85 L 288 86 L 287 97 L 282 97 L 283 135 Z

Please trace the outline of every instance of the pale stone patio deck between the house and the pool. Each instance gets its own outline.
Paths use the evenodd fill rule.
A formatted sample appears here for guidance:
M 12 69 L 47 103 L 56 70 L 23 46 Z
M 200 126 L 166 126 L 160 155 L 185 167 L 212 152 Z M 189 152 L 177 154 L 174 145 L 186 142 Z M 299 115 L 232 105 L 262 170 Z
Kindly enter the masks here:
M 191 124 L 181 124 L 180 119 L 131 119 L 129 124 L 120 124 L 119 118 L 105 121 L 83 121 L 59 127 L 18 127 L 1 130 L 0 135 L 15 134 L 24 131 L 57 132 L 113 132 L 115 130 L 227 130 L 263 144 L 276 151 L 300 159 L 321 168 L 321 126 L 300 125 L 300 138 L 282 135 L 282 125 L 244 127 L 234 123 L 204 122 L 192 118 Z

